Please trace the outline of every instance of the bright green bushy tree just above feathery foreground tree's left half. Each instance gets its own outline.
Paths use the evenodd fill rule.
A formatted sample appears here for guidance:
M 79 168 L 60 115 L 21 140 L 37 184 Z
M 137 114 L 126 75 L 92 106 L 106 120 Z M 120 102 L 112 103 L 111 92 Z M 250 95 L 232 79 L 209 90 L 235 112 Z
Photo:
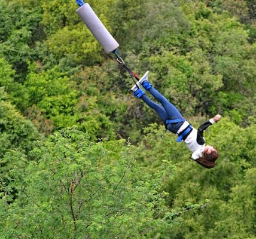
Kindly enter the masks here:
M 56 128 L 74 125 L 78 93 L 68 76 L 56 68 L 40 72 L 34 64 L 29 71 L 25 81 L 29 94 L 28 106 L 36 105 L 46 118 L 53 119 Z

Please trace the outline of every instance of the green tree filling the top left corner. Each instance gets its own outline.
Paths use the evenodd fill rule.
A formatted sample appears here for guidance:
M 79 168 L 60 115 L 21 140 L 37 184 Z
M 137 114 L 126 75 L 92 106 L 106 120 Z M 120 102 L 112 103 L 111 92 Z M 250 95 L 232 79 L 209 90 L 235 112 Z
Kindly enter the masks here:
M 36 52 L 33 50 L 35 41 L 44 38 L 39 27 L 41 8 L 36 3 L 4 0 L 0 3 L 4 13 L 4 19 L 0 22 L 2 28 L 8 29 L 3 31 L 4 35 L 1 34 L 0 51 L 20 76 L 20 82 L 26 74 L 26 62 L 36 59 Z

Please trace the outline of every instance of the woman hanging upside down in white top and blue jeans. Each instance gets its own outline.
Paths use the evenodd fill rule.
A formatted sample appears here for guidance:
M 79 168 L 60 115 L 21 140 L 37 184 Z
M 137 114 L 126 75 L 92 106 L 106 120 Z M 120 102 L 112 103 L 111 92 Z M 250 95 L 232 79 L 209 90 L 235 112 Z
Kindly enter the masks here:
M 138 88 L 139 85 L 142 85 L 145 90 L 149 91 L 162 106 L 150 100 L 145 92 L 141 88 Z M 215 161 L 218 158 L 218 151 L 212 146 L 205 145 L 203 131 L 210 125 L 218 122 L 221 118 L 220 115 L 215 115 L 214 118 L 209 119 L 196 130 L 196 128 L 182 117 L 178 109 L 150 84 L 148 81 L 148 71 L 139 79 L 137 84 L 133 85 L 131 90 L 134 92 L 133 95 L 135 97 L 144 100 L 150 108 L 159 114 L 167 130 L 178 135 L 177 142 L 185 142 L 187 148 L 192 152 L 191 158 L 194 161 L 206 168 L 213 168 L 216 165 Z

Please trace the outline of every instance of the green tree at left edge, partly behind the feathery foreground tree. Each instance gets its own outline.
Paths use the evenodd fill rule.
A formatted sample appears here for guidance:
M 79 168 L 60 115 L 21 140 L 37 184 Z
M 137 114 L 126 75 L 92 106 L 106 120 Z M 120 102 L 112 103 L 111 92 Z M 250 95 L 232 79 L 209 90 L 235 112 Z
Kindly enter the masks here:
M 9 187 L 13 177 L 10 170 L 13 169 L 13 161 L 2 160 L 10 151 L 19 151 L 20 157 L 25 157 L 35 146 L 35 140 L 44 139 L 38 133 L 31 121 L 23 117 L 11 105 L 10 97 L 5 93 L 4 88 L 0 87 L 0 185 Z M 19 163 L 16 165 L 19 167 Z M 11 186 L 10 186 L 11 188 Z M 11 194 L 15 195 L 13 188 Z M 0 189 L 2 192 L 2 189 Z

